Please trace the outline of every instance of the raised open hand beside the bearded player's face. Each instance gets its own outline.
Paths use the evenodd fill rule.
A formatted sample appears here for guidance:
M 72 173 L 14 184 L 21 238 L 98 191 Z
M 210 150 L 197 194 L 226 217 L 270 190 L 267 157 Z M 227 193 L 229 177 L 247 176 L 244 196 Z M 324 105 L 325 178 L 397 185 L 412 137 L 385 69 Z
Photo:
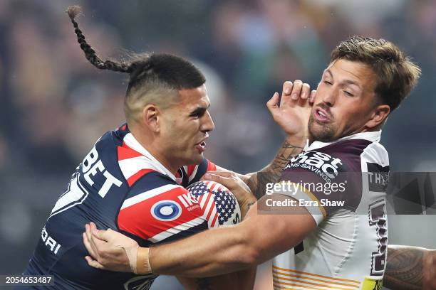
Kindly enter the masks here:
M 266 103 L 274 121 L 284 129 L 288 136 L 306 140 L 308 137 L 308 119 L 315 100 L 316 90 L 310 85 L 296 80 L 283 84 L 281 97 L 275 92 Z

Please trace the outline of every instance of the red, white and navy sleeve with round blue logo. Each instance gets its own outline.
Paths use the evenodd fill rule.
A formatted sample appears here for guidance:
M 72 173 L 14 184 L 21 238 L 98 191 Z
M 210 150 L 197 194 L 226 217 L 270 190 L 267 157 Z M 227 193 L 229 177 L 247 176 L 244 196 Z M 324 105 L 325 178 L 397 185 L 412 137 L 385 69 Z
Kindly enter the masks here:
M 188 190 L 162 173 L 152 172 L 128 192 L 118 214 L 118 228 L 140 238 L 138 242 L 145 246 L 206 230 L 207 220 Z

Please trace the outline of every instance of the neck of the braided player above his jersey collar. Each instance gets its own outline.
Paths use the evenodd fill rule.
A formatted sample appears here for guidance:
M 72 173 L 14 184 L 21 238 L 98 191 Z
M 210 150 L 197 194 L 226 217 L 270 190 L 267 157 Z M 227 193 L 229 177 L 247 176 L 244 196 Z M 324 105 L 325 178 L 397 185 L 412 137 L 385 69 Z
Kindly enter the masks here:
M 162 146 L 157 146 L 155 138 L 152 136 L 152 134 L 147 134 L 147 132 L 140 128 L 137 128 L 136 126 L 130 127 L 129 125 L 129 130 L 142 147 L 149 151 L 150 154 L 152 154 L 152 156 L 155 157 L 157 161 L 159 161 L 165 168 L 167 168 L 168 171 L 176 175 L 177 171 L 182 166 L 171 162 L 170 159 L 168 159 L 167 156 L 162 153 L 162 151 L 160 150 Z

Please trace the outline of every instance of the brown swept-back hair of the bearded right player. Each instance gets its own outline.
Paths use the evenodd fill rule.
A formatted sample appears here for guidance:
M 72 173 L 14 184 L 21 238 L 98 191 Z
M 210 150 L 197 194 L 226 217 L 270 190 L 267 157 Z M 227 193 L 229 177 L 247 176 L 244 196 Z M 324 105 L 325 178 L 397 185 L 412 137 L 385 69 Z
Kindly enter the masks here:
M 351 36 L 331 53 L 338 59 L 368 65 L 377 76 L 375 94 L 390 110 L 396 109 L 417 84 L 421 70 L 400 48 L 384 39 Z

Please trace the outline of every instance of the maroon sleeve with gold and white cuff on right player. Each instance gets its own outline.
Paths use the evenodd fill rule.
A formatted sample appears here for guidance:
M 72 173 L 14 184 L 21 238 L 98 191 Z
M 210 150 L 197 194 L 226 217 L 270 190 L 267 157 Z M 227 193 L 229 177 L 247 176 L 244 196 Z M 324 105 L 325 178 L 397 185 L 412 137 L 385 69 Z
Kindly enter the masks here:
M 276 193 L 294 198 L 318 225 L 338 210 L 358 207 L 362 197 L 360 157 L 307 151 L 291 159 L 280 182 L 284 186 Z

